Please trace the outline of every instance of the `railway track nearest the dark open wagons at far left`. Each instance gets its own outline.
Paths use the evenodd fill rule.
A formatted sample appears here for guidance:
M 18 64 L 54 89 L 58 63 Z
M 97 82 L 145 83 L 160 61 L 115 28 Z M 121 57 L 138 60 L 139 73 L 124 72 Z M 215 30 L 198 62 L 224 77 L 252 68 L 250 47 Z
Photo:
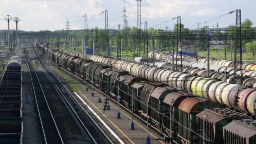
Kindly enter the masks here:
M 35 96 L 37 112 L 40 119 L 40 125 L 43 131 L 43 139 L 45 144 L 64 144 L 59 133 L 59 129 L 53 118 L 51 109 L 45 97 L 40 80 L 32 62 L 29 59 L 28 53 L 24 50 L 26 64 L 29 68 L 29 75 L 32 82 L 32 88 Z

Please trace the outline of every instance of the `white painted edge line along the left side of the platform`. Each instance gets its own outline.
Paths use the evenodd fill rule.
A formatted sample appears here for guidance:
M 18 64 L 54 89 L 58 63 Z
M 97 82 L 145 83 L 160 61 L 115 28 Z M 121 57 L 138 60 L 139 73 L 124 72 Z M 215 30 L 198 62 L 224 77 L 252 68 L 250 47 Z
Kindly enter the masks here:
M 83 104 L 85 104 L 85 105 L 88 107 L 88 109 L 93 113 L 93 115 L 95 115 L 95 116 L 98 118 L 98 120 L 109 130 L 109 132 L 110 132 L 121 144 L 125 144 L 125 143 L 117 136 L 117 134 L 116 134 L 114 131 L 112 131 L 111 128 L 109 128 L 109 126 L 101 119 L 101 117 L 99 117 L 99 115 L 97 115 L 96 112 L 94 112 L 94 110 L 81 98 L 81 96 L 80 96 L 79 94 L 77 94 L 77 93 L 75 92 L 75 95 L 80 99 L 80 101 L 83 102 Z

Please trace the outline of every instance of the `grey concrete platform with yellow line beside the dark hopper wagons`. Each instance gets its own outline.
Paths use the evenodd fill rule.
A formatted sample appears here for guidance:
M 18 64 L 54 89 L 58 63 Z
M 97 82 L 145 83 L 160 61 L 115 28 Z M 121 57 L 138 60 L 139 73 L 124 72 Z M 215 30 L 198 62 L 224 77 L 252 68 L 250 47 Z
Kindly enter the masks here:
M 103 111 L 104 103 L 99 103 L 99 91 L 94 90 L 94 96 L 91 96 L 91 89 L 88 91 L 76 91 L 83 101 L 96 112 L 102 120 L 127 144 L 145 144 L 147 136 L 147 125 L 142 123 L 138 118 L 133 117 L 135 130 L 130 130 L 131 114 L 120 107 L 121 119 L 117 119 L 117 104 L 109 101 L 110 110 Z M 105 96 L 100 94 L 101 101 Z M 164 144 L 157 132 L 149 128 L 151 144 Z

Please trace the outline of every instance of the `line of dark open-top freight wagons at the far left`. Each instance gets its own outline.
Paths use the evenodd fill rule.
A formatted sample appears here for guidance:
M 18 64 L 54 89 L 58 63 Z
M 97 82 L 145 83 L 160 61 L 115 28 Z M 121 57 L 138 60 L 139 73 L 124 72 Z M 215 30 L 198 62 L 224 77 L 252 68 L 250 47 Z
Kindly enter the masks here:
M 22 144 L 21 60 L 11 57 L 0 81 L 0 143 Z

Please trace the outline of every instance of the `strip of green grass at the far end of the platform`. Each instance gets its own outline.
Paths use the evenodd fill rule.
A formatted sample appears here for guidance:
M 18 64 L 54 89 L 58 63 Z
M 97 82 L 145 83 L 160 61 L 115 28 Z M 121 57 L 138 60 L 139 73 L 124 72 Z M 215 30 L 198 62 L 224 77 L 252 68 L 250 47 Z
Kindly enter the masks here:
M 62 70 L 59 70 L 58 68 L 53 68 L 53 71 L 58 73 L 58 75 L 62 77 L 64 82 L 66 82 L 73 91 L 82 91 L 85 89 L 85 85 L 76 83 L 71 76 L 65 74 Z

